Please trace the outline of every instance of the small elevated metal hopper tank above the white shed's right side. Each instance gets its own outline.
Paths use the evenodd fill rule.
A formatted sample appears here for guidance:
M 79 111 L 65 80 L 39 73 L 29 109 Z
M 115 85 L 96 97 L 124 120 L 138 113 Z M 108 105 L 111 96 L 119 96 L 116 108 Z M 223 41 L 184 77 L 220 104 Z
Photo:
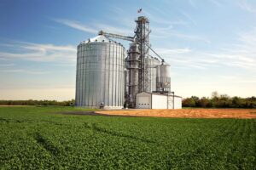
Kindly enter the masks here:
M 162 94 L 171 92 L 170 65 L 163 63 L 156 66 L 156 91 Z

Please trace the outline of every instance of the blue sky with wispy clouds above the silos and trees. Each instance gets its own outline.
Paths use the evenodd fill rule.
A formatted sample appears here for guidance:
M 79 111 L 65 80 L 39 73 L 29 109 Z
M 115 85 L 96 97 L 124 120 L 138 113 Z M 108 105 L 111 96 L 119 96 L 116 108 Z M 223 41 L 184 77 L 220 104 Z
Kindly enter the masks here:
M 254 0 L 1 0 L 0 99 L 74 99 L 79 42 L 100 30 L 133 36 L 139 15 L 176 94 L 256 95 Z

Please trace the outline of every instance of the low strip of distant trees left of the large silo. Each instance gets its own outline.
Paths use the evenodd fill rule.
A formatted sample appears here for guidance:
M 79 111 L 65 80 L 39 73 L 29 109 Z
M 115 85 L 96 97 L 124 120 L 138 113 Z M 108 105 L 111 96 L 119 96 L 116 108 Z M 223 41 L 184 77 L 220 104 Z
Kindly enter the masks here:
M 74 105 L 74 99 L 67 101 L 56 100 L 0 100 L 0 105 L 58 105 L 58 106 L 70 106 Z

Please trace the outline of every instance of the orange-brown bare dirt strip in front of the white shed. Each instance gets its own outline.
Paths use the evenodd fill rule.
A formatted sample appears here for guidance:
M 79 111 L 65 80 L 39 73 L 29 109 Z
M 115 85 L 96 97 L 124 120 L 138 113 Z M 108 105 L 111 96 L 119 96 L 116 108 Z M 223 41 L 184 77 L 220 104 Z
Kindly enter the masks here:
M 181 109 L 181 110 L 120 110 L 96 111 L 108 116 L 155 116 L 188 118 L 256 118 L 255 109 Z

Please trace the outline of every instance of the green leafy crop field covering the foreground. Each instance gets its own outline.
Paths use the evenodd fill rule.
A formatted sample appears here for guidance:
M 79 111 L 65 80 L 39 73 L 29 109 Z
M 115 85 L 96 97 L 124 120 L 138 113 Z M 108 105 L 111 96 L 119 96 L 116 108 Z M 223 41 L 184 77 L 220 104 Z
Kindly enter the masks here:
M 255 169 L 255 119 L 69 116 L 0 107 L 0 169 Z

